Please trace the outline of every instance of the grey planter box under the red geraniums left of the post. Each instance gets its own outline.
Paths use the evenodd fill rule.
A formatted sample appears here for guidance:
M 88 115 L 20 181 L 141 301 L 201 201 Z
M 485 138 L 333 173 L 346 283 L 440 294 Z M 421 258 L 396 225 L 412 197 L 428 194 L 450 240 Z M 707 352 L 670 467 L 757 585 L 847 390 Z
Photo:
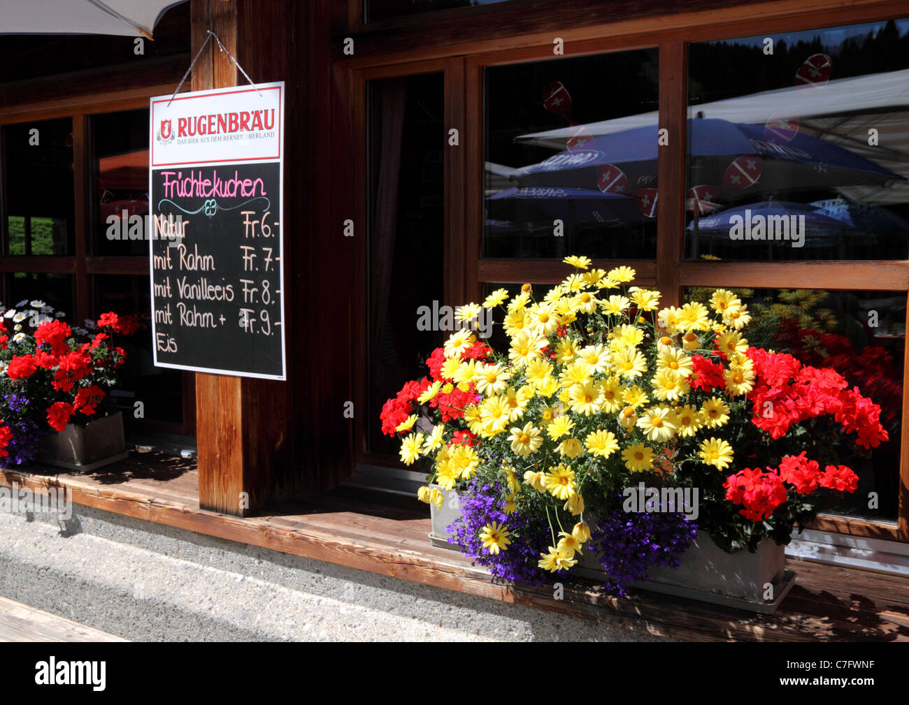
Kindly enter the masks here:
M 116 412 L 79 426 L 67 423 L 42 442 L 41 462 L 69 470 L 93 471 L 129 456 L 123 413 Z

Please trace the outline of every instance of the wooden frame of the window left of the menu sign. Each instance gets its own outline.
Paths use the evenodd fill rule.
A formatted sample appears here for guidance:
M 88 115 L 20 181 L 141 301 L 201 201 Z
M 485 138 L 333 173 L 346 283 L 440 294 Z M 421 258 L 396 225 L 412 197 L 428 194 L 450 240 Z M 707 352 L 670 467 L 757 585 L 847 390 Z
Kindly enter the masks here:
M 92 310 L 92 305 L 95 303 L 95 288 L 92 286 L 92 278 L 96 274 L 148 275 L 148 260 L 141 255 L 112 256 L 88 253 L 89 239 L 93 235 L 88 213 L 88 191 L 92 180 L 88 120 L 96 114 L 122 113 L 147 108 L 151 97 L 169 94 L 173 90 L 174 84 L 156 84 L 131 88 L 116 94 L 78 95 L 62 100 L 17 104 L 0 109 L 0 127 L 61 118 L 72 120 L 75 198 L 73 253 L 64 256 L 3 255 L 0 257 L 0 273 L 72 275 L 75 290 L 75 321 L 88 318 L 89 312 Z M 195 374 L 182 372 L 182 379 L 183 422 L 148 421 L 144 423 L 144 428 L 152 432 L 195 435 Z

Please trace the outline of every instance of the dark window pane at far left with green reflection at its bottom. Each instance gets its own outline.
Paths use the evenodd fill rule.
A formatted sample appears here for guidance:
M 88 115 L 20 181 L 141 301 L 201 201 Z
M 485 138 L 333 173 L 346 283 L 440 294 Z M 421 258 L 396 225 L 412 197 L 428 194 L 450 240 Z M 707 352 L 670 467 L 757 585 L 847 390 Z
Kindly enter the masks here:
M 65 118 L 6 125 L 0 135 L 5 253 L 72 253 L 72 121 Z

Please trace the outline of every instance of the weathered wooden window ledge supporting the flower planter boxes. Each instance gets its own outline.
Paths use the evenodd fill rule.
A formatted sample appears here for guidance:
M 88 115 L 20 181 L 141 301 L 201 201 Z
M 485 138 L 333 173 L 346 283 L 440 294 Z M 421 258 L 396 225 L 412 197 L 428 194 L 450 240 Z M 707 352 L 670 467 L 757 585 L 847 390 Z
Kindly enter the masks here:
M 199 509 L 195 462 L 162 452 L 90 474 L 0 470 L 0 485 L 65 487 L 77 504 L 305 558 L 422 582 L 678 640 L 909 640 L 904 578 L 787 559 L 798 579 L 774 615 L 755 615 L 645 591 L 617 599 L 593 581 L 551 587 L 496 584 L 457 551 L 432 546 L 425 504 L 341 487 L 275 503 L 241 519 Z

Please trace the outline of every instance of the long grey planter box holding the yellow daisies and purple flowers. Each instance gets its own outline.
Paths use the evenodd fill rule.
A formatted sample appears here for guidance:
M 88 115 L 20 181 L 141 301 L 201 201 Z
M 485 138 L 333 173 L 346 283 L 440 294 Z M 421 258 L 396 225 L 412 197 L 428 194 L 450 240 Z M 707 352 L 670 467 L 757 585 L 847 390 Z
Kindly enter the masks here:
M 442 509 L 430 504 L 432 532 L 429 540 L 435 546 L 457 551 L 457 546 L 448 543 L 446 527 L 457 519 L 460 502 L 457 492 L 442 493 L 445 495 Z M 584 551 L 571 574 L 594 581 L 604 580 L 603 568 L 591 551 Z M 698 531 L 697 537 L 682 555 L 678 568 L 656 566 L 648 572 L 646 581 L 633 582 L 631 586 L 740 610 L 773 614 L 794 582 L 795 572 L 785 568 L 785 546 L 764 540 L 754 553 L 727 553 L 714 543 L 708 533 Z M 768 583 L 771 598 L 765 600 Z

